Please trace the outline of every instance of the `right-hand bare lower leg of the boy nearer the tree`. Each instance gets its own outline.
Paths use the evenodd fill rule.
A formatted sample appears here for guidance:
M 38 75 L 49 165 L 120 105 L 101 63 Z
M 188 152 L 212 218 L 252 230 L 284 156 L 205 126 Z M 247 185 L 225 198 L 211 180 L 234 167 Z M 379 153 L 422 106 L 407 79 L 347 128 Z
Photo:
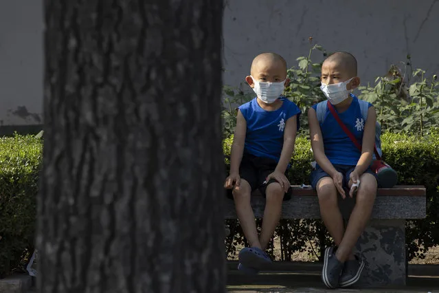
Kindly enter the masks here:
M 265 189 L 265 210 L 262 219 L 262 230 L 260 232 L 260 245 L 262 250 L 266 250 L 273 237 L 276 226 L 278 226 L 282 213 L 282 202 L 285 191 L 275 180 L 270 180 Z

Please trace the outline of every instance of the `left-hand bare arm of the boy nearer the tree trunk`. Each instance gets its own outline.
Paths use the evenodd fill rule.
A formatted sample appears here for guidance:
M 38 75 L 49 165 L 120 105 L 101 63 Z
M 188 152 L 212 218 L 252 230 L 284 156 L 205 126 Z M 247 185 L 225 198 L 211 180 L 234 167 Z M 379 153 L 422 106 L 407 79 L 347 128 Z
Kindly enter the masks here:
M 245 121 L 243 113 L 238 110 L 238 115 L 236 116 L 235 134 L 230 153 L 230 174 L 239 173 L 239 165 L 243 159 L 246 132 L 247 121 Z

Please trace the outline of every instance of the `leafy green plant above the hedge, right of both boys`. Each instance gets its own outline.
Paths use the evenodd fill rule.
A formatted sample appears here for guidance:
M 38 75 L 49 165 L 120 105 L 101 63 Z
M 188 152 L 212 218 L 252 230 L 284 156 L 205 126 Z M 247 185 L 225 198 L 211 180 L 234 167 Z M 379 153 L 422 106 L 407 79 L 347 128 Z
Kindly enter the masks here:
M 438 125 L 439 83 L 436 74 L 427 78 L 423 69 L 416 69 L 410 78 L 406 74 L 409 61 L 404 74 L 392 65 L 386 76 L 376 78 L 374 87 L 359 87 L 360 98 L 374 105 L 383 130 L 422 136 L 426 129 Z

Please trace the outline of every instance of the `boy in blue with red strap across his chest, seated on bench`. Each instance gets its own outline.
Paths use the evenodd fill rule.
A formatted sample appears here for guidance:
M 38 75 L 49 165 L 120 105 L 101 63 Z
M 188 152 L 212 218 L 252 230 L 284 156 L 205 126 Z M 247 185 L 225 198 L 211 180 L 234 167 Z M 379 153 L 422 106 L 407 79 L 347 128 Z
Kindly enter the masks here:
M 354 56 L 347 52 L 328 56 L 322 65 L 321 86 L 328 101 L 308 111 L 311 146 L 317 162 L 311 185 L 317 190 L 322 219 L 336 245 L 326 248 L 322 271 L 324 283 L 331 288 L 348 287 L 359 280 L 364 263 L 352 250 L 370 218 L 376 196 L 376 175 L 370 169 L 376 113 L 370 103 L 350 93 L 359 83 Z M 367 119 L 361 107 L 365 107 Z M 324 117 L 319 113 L 324 113 Z M 354 135 L 361 151 L 337 119 Z M 337 205 L 337 191 L 343 199 L 356 193 L 346 230 Z

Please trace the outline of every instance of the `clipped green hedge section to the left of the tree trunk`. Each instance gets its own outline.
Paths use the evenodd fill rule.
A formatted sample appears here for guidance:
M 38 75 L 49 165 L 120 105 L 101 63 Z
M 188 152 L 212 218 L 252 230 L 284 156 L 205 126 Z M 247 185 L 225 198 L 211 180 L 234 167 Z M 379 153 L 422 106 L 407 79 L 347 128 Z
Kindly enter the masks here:
M 41 151 L 30 135 L 0 138 L 0 277 L 32 254 Z

